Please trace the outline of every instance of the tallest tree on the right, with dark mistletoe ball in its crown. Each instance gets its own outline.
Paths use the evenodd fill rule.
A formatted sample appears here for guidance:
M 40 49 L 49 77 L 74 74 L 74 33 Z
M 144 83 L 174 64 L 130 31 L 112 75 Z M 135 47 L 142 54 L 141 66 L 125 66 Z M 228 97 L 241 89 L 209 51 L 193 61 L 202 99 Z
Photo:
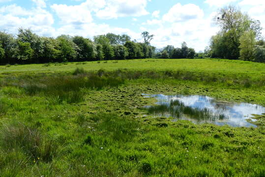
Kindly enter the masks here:
M 214 21 L 220 26 L 220 31 L 211 38 L 210 53 L 212 57 L 239 59 L 241 36 L 249 31 L 253 31 L 254 38 L 259 39 L 261 36 L 260 21 L 251 19 L 235 6 L 221 8 Z M 242 58 L 244 57 L 241 55 Z

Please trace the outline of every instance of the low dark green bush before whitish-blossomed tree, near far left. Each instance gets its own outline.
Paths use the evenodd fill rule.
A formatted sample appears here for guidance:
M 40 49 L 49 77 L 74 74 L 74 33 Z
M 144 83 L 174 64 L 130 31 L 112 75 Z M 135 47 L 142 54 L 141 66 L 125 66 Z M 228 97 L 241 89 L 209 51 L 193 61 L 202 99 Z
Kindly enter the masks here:
M 17 52 L 17 58 L 19 60 L 27 61 L 28 63 L 32 62 L 34 51 L 30 47 L 29 42 L 21 42 L 18 41 L 18 52 Z

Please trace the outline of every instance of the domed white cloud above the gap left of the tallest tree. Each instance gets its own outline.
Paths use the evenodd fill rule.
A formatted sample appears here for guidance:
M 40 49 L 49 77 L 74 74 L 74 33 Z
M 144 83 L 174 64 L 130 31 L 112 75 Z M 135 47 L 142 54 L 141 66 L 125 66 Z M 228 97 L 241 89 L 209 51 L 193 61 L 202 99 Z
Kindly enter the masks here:
M 199 6 L 195 4 L 181 5 L 180 3 L 177 3 L 163 16 L 163 20 L 173 23 L 201 19 L 203 17 L 204 11 Z

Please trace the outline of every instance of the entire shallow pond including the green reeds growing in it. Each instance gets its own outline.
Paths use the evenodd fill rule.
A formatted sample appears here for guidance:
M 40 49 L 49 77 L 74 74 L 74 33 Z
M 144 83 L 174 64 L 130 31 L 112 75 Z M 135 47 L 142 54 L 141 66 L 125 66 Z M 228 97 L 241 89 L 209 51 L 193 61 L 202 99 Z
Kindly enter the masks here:
M 228 124 L 234 127 L 257 127 L 246 119 L 252 115 L 262 115 L 265 107 L 249 103 L 220 102 L 214 98 L 200 95 L 147 95 L 158 100 L 156 106 L 146 106 L 145 109 L 155 116 L 173 117 L 174 121 L 190 120 L 194 123 Z

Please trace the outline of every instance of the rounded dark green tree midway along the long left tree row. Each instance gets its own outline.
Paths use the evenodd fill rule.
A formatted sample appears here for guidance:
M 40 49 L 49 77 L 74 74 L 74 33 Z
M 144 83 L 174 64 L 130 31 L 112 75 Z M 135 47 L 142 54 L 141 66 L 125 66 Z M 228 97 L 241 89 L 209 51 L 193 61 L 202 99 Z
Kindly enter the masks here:
M 82 36 L 74 36 L 72 40 L 77 45 L 77 59 L 79 61 L 92 60 L 96 57 L 96 46 L 91 40 Z

